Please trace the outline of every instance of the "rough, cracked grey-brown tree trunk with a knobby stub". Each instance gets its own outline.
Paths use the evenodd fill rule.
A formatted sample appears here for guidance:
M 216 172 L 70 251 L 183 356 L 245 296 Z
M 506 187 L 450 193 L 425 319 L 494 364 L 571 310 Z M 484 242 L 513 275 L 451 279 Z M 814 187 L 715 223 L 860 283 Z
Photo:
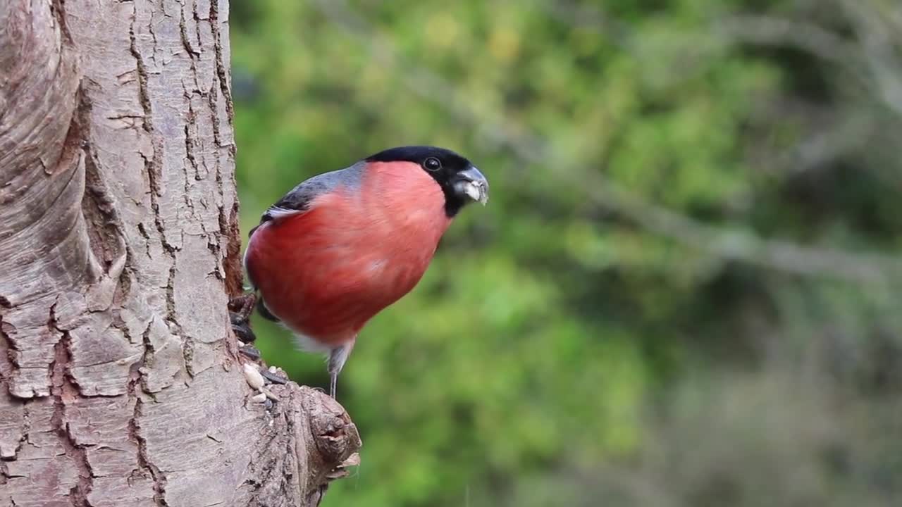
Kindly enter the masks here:
M 315 505 L 335 401 L 252 401 L 226 0 L 0 1 L 0 506 Z

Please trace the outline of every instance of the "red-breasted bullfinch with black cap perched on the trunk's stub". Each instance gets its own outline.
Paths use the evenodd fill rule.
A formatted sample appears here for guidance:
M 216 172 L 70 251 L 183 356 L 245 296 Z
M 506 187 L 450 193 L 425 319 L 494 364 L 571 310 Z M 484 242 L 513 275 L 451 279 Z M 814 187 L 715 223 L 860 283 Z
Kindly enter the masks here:
M 304 180 L 249 234 L 253 304 L 301 349 L 327 355 L 335 398 L 366 323 L 417 285 L 457 214 L 488 197 L 472 162 L 436 146 L 391 148 Z

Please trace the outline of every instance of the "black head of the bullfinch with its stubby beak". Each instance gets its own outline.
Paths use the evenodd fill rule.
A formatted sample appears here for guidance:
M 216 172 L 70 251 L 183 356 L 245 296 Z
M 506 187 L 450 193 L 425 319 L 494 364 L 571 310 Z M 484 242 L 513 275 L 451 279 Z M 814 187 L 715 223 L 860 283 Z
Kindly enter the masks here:
M 470 161 L 445 148 L 435 146 L 400 146 L 366 158 L 369 162 L 412 162 L 417 171 L 425 171 L 436 180 L 445 194 L 445 212 L 456 216 L 470 202 L 485 204 L 489 200 L 489 182 Z

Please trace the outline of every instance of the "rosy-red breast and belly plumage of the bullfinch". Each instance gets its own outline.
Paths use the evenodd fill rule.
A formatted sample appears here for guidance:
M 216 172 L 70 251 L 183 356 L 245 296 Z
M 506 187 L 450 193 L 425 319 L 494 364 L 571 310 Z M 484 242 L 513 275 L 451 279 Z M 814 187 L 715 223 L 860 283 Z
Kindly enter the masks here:
M 417 164 L 371 161 L 359 182 L 259 226 L 244 263 L 273 315 L 339 346 L 417 284 L 451 223 L 444 206 Z

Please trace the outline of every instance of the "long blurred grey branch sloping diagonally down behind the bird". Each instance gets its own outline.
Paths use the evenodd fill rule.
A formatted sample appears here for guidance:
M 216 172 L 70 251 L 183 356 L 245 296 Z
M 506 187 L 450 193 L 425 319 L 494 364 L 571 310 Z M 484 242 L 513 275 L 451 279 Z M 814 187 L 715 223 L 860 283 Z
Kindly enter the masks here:
M 330 21 L 344 27 L 348 34 L 369 48 L 374 59 L 389 67 L 403 68 L 403 71 L 393 74 L 400 76 L 402 84 L 411 92 L 442 106 L 449 115 L 477 129 L 480 135 L 497 146 L 510 149 L 521 162 L 556 167 L 559 178 L 566 180 L 572 188 L 591 189 L 588 198 L 597 206 L 628 218 L 651 234 L 672 239 L 724 261 L 749 263 L 778 272 L 862 283 L 902 281 L 902 261 L 890 255 L 805 246 L 763 238 L 746 230 L 709 226 L 667 207 L 650 203 L 599 171 L 577 173 L 573 171 L 575 168 L 568 170 L 538 135 L 512 124 L 500 114 L 475 108 L 462 97 L 453 83 L 435 72 L 402 61 L 393 41 L 375 30 L 363 16 L 354 13 L 344 0 L 318 0 L 317 4 Z M 785 34 L 787 28 L 792 26 L 780 25 L 779 30 L 771 27 L 769 32 Z M 823 51 L 820 43 L 833 46 L 840 41 L 826 33 L 811 30 L 799 36 L 795 43 L 812 51 Z M 840 47 L 846 51 L 845 46 Z

